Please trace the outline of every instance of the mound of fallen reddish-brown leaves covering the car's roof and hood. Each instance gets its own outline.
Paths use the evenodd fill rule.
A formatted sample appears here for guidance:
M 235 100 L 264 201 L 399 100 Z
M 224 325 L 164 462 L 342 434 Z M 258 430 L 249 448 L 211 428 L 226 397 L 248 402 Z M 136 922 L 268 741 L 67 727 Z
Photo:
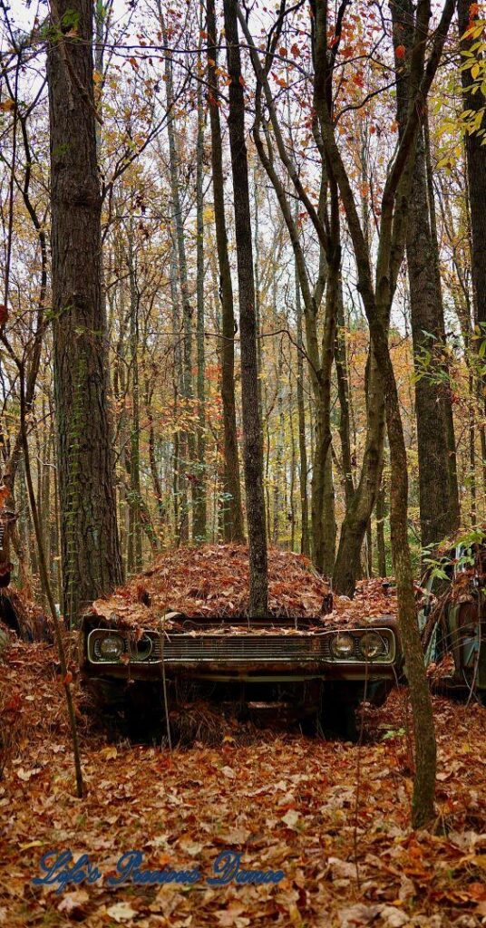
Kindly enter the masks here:
M 205 545 L 164 555 L 111 597 L 97 599 L 92 612 L 125 627 L 150 628 L 172 612 L 215 619 L 241 617 L 247 614 L 248 597 L 248 548 Z M 315 625 L 358 625 L 396 610 L 389 581 L 361 581 L 352 600 L 333 596 L 308 558 L 269 550 L 269 614 L 276 626 L 279 616 L 304 617 Z M 166 627 L 170 625 L 169 619 Z

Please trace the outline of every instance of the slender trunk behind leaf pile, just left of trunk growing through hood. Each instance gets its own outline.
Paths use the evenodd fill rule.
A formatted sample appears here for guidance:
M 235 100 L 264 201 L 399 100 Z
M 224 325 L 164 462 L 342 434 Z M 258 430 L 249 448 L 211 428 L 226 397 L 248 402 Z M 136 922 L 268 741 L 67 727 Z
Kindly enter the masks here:
M 208 59 L 208 102 L 211 124 L 211 164 L 213 196 L 215 204 L 215 226 L 217 260 L 219 264 L 220 300 L 222 311 L 221 348 L 221 398 L 223 401 L 224 432 L 224 521 L 225 541 L 243 542 L 243 509 L 240 484 L 240 462 L 236 432 L 236 406 L 234 399 L 234 310 L 231 283 L 230 257 L 224 201 L 223 156 L 221 146 L 221 124 L 217 89 L 217 28 L 214 0 L 207 3 L 207 59 Z

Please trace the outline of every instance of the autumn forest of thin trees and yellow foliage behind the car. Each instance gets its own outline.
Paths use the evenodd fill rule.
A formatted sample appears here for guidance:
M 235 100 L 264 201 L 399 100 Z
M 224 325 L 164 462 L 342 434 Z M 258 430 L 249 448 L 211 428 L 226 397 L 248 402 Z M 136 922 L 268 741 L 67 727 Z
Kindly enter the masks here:
M 405 126 L 420 8 L 326 7 L 325 93 L 371 264 L 380 260 L 383 194 Z M 55 27 L 43 4 L 8 8 L 2 0 L 2 12 L 2 470 L 19 514 L 15 577 L 42 599 L 23 416 L 48 574 L 61 611 L 73 618 L 160 551 L 246 535 L 230 62 L 223 10 L 211 3 L 97 4 L 101 329 L 74 319 L 62 331 L 51 285 L 57 246 L 46 82 Z M 239 11 L 247 22 L 246 32 L 240 22 L 240 87 L 256 405 L 267 542 L 309 555 L 351 594 L 358 576 L 392 572 L 393 479 L 386 391 L 352 231 L 316 131 L 318 12 L 302 3 Z M 428 14 L 423 45 L 432 56 L 447 4 Z M 479 5 L 461 0 L 439 49 L 414 140 L 406 260 L 392 288 L 389 346 L 417 575 L 424 549 L 484 520 L 481 15 Z M 79 12 L 63 4 L 56 17 L 63 42 L 75 47 Z M 78 80 L 74 74 L 74 92 Z M 55 144 L 51 158 L 62 161 Z M 87 260 L 82 273 L 98 272 Z M 86 385 L 99 370 L 90 368 L 85 342 L 97 342 L 101 393 Z M 97 538 L 97 518 L 85 511 L 107 495 L 109 540 L 103 532 Z M 105 570 L 104 561 L 112 566 Z

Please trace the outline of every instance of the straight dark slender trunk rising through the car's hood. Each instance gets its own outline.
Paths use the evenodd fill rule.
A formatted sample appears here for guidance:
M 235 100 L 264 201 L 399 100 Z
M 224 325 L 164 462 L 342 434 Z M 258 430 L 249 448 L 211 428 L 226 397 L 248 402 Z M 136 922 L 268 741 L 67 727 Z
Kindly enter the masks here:
M 238 261 L 240 333 L 242 352 L 243 461 L 246 517 L 250 550 L 250 602 L 252 615 L 268 609 L 268 562 L 263 495 L 263 444 L 258 407 L 256 362 L 255 281 L 248 189 L 248 163 L 244 131 L 244 98 L 236 0 L 224 2 L 225 32 L 230 74 L 230 150 L 233 177 L 234 221 Z

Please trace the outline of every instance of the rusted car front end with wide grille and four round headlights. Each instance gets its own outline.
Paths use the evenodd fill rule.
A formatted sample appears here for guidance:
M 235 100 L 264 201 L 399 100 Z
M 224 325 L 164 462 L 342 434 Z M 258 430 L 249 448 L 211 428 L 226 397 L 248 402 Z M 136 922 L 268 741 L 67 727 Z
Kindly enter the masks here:
M 391 615 L 342 628 L 320 618 L 204 619 L 172 612 L 158 627 L 134 631 L 116 615 L 87 614 L 81 667 L 97 698 L 123 705 L 136 731 L 148 707 L 157 704 L 164 717 L 164 695 L 180 706 L 190 692 L 238 702 L 243 713 L 286 707 L 306 728 L 352 740 L 358 703 L 385 699 L 400 672 L 401 651 Z

